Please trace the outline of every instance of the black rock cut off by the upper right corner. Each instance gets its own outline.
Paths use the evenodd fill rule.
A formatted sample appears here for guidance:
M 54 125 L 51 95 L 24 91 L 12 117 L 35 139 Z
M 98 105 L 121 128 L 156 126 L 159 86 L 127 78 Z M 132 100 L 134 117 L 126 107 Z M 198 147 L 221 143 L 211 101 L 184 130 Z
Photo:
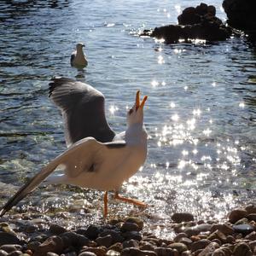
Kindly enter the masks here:
M 256 38 L 255 0 L 224 0 L 223 8 L 230 26 Z

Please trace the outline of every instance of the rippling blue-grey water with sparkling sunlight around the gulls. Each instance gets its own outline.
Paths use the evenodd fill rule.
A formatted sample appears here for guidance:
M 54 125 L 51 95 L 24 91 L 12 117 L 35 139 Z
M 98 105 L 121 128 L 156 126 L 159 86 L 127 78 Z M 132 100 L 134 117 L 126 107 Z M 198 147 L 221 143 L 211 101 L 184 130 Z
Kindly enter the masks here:
M 158 219 L 168 222 L 172 212 L 222 218 L 254 200 L 255 50 L 238 38 L 166 45 L 137 37 L 144 28 L 176 23 L 182 9 L 199 3 L 0 2 L 2 204 L 66 148 L 61 115 L 48 98 L 54 75 L 101 90 L 117 132 L 125 130 L 126 108 L 136 91 L 148 95 L 148 159 L 123 186 L 124 195 L 145 201 L 148 209 L 113 201 L 110 215 L 142 215 L 162 234 Z M 222 1 L 205 3 L 225 19 Z M 86 45 L 84 71 L 69 64 L 78 42 Z M 102 216 L 102 192 L 70 186 L 43 186 L 22 202 L 20 211 L 68 210 L 76 222 L 84 215 L 94 222 Z

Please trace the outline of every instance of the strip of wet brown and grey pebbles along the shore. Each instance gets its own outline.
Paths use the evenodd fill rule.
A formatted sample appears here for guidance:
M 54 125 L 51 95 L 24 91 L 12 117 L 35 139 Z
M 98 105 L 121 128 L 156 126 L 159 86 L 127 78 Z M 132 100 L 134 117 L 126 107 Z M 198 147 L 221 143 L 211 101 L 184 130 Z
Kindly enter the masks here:
M 107 218 L 75 230 L 38 213 L 13 214 L 0 222 L 0 256 L 256 255 L 255 205 L 234 209 L 221 220 L 196 220 L 189 212 L 175 212 L 168 224 L 172 239 L 145 231 L 139 217 Z

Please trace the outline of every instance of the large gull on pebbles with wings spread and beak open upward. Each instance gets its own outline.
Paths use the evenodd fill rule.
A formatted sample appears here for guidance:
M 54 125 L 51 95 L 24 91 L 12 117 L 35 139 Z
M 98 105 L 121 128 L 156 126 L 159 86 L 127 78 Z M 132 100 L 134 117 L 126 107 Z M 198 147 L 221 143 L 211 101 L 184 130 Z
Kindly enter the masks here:
M 29 180 L 0 210 L 0 217 L 46 179 L 46 183 L 73 184 L 105 191 L 103 216 L 108 215 L 108 192 L 114 198 L 147 207 L 142 201 L 119 195 L 125 180 L 143 166 L 147 157 L 147 131 L 143 125 L 143 107 L 148 96 L 136 101 L 128 111 L 125 131 L 115 134 L 105 117 L 104 96 L 89 84 L 67 78 L 49 83 L 49 97 L 64 119 L 67 150 Z M 58 166 L 63 174 L 49 176 Z

